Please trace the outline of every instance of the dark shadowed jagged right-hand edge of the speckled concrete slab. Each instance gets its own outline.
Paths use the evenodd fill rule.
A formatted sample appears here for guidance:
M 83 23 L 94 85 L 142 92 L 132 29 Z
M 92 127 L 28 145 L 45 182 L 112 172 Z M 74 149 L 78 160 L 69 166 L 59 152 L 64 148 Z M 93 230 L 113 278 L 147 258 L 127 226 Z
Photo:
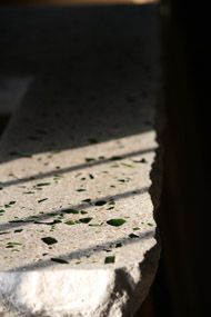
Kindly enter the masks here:
M 164 111 L 164 87 L 162 86 L 159 91 L 159 98 L 157 103 L 157 116 L 155 116 L 155 131 L 157 131 L 157 141 L 159 147 L 155 150 L 155 158 L 152 164 L 152 169 L 150 172 L 150 178 L 152 180 L 151 187 L 149 189 L 149 194 L 152 199 L 153 205 L 153 218 L 157 222 L 157 230 L 155 230 L 155 241 L 157 244 L 144 254 L 144 260 L 140 264 L 140 270 L 142 274 L 142 279 L 140 281 L 140 285 L 137 287 L 139 288 L 138 294 L 142 296 L 141 304 L 144 301 L 145 297 L 148 296 L 151 285 L 153 283 L 153 279 L 157 274 L 157 269 L 159 266 L 159 259 L 162 248 L 162 242 L 160 239 L 159 234 L 159 227 L 158 227 L 158 211 L 160 208 L 160 198 L 162 192 L 162 172 L 163 172 L 163 156 L 164 156 L 164 147 L 163 147 L 163 133 L 165 131 L 167 126 L 167 117 Z M 149 286 L 149 279 L 150 279 L 150 286 Z M 147 286 L 147 287 L 145 287 Z M 131 300 L 131 307 L 132 307 L 132 315 L 133 316 L 137 310 L 140 308 L 140 306 L 135 306 L 137 297 Z M 129 315 L 125 315 L 128 317 Z

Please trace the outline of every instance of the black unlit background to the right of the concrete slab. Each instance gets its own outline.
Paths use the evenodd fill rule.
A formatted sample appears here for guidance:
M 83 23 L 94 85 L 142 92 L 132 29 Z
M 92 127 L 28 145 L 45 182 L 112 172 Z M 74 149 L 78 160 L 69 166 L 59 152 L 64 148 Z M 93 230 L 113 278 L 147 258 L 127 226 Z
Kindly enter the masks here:
M 210 316 L 210 30 L 202 2 L 172 1 L 160 230 L 172 316 Z

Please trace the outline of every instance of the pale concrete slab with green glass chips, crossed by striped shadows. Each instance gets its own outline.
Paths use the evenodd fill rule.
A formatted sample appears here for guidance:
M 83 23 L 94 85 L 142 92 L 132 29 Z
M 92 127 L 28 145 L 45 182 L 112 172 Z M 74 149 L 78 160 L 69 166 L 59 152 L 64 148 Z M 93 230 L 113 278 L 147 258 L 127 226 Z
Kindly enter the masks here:
M 0 142 L 0 316 L 133 316 L 160 250 L 159 9 L 0 20 L 6 80 L 32 78 Z

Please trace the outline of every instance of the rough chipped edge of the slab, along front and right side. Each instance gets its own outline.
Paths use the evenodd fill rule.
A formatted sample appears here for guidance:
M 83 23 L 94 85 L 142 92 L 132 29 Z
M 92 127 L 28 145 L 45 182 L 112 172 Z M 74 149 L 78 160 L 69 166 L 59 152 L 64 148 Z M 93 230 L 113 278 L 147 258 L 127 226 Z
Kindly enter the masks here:
M 151 167 L 150 178 L 153 181 L 149 190 L 155 221 L 158 220 L 157 212 L 162 188 L 162 158 L 164 152 L 162 133 L 165 130 L 167 121 L 163 98 L 163 89 L 161 89 L 155 117 L 155 135 L 159 147 L 155 150 L 155 158 Z M 135 265 L 115 268 L 114 270 L 111 266 L 108 269 L 1 271 L 0 317 L 133 316 L 145 299 L 153 283 L 160 251 L 161 242 L 157 221 L 154 246 L 144 254 L 142 262 Z M 57 285 L 57 288 L 53 288 L 53 284 Z M 89 285 L 89 289 L 87 285 Z M 48 288 L 49 291 L 47 291 Z M 63 305 L 61 301 L 57 304 L 57 300 L 49 301 L 49 294 L 50 298 L 58 298 L 59 300 L 61 294 L 64 299 L 66 295 L 71 294 L 72 300 L 69 304 L 66 300 Z M 82 295 L 80 299 L 79 294 Z M 77 300 L 80 303 L 76 309 L 71 306 L 74 306 Z

